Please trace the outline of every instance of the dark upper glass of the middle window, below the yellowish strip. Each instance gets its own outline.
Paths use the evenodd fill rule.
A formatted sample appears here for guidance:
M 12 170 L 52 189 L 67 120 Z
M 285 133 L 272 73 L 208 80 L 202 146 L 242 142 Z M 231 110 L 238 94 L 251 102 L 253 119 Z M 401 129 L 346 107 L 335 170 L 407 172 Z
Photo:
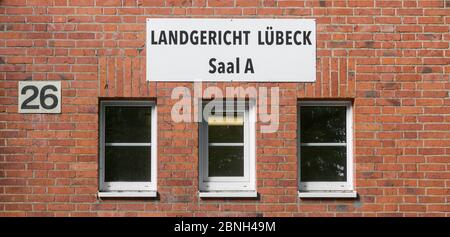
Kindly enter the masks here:
M 208 126 L 209 143 L 242 143 L 244 142 L 244 126 Z

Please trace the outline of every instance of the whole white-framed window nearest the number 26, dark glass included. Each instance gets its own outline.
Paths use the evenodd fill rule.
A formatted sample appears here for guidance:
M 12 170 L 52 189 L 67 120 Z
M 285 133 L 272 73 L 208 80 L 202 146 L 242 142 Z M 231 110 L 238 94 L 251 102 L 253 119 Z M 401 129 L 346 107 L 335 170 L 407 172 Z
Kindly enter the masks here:
M 101 102 L 99 196 L 156 195 L 155 128 L 153 102 Z

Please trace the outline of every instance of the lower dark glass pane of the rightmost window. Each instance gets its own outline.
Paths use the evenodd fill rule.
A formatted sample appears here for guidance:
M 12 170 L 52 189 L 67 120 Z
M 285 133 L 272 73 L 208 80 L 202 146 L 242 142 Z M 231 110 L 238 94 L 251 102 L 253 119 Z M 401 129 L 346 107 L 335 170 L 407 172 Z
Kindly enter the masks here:
M 301 181 L 347 181 L 345 146 L 302 146 Z

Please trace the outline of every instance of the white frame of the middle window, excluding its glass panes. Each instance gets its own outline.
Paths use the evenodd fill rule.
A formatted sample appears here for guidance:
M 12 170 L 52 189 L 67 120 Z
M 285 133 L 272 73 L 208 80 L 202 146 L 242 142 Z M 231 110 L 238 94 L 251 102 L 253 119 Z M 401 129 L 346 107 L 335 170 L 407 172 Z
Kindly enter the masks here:
M 223 103 L 222 100 L 210 101 L 209 103 Z M 226 106 L 223 108 L 223 113 L 226 115 L 228 105 L 234 105 L 235 101 L 225 101 Z M 238 103 L 239 104 L 239 103 Z M 242 101 L 242 104 L 244 102 Z M 244 139 L 242 146 L 244 147 L 244 176 L 243 177 L 209 177 L 208 176 L 208 123 L 202 119 L 199 126 L 199 188 L 200 192 L 226 192 L 227 195 L 218 194 L 217 197 L 224 196 L 240 196 L 234 192 L 254 192 L 248 197 L 256 195 L 256 164 L 255 164 L 255 106 L 253 101 L 246 101 L 245 108 L 238 108 L 238 112 L 244 113 Z M 210 104 L 212 105 L 212 104 Z M 237 107 L 237 106 L 236 106 Z M 215 106 L 215 108 L 217 108 Z M 225 144 L 225 143 L 224 143 Z M 222 145 L 224 145 L 222 144 Z M 213 144 L 213 146 L 218 144 Z M 241 145 L 241 144 L 226 144 L 226 145 Z M 202 195 L 202 197 L 212 197 L 209 194 Z M 214 195 L 213 195 L 214 196 Z

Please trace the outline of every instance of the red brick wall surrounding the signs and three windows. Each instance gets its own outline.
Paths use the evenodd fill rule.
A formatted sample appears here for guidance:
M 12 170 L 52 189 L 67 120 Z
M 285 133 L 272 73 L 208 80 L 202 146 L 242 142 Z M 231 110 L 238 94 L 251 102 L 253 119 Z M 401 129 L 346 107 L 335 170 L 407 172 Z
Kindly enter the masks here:
M 450 1 L 2 0 L 0 216 L 450 216 Z M 279 86 L 257 133 L 258 200 L 198 197 L 197 124 L 145 81 L 147 17 L 317 19 L 315 83 Z M 20 80 L 61 80 L 62 113 L 18 114 Z M 211 83 L 219 87 L 228 83 Z M 158 104 L 154 200 L 99 200 L 98 101 Z M 354 98 L 358 199 L 297 197 L 296 103 Z

